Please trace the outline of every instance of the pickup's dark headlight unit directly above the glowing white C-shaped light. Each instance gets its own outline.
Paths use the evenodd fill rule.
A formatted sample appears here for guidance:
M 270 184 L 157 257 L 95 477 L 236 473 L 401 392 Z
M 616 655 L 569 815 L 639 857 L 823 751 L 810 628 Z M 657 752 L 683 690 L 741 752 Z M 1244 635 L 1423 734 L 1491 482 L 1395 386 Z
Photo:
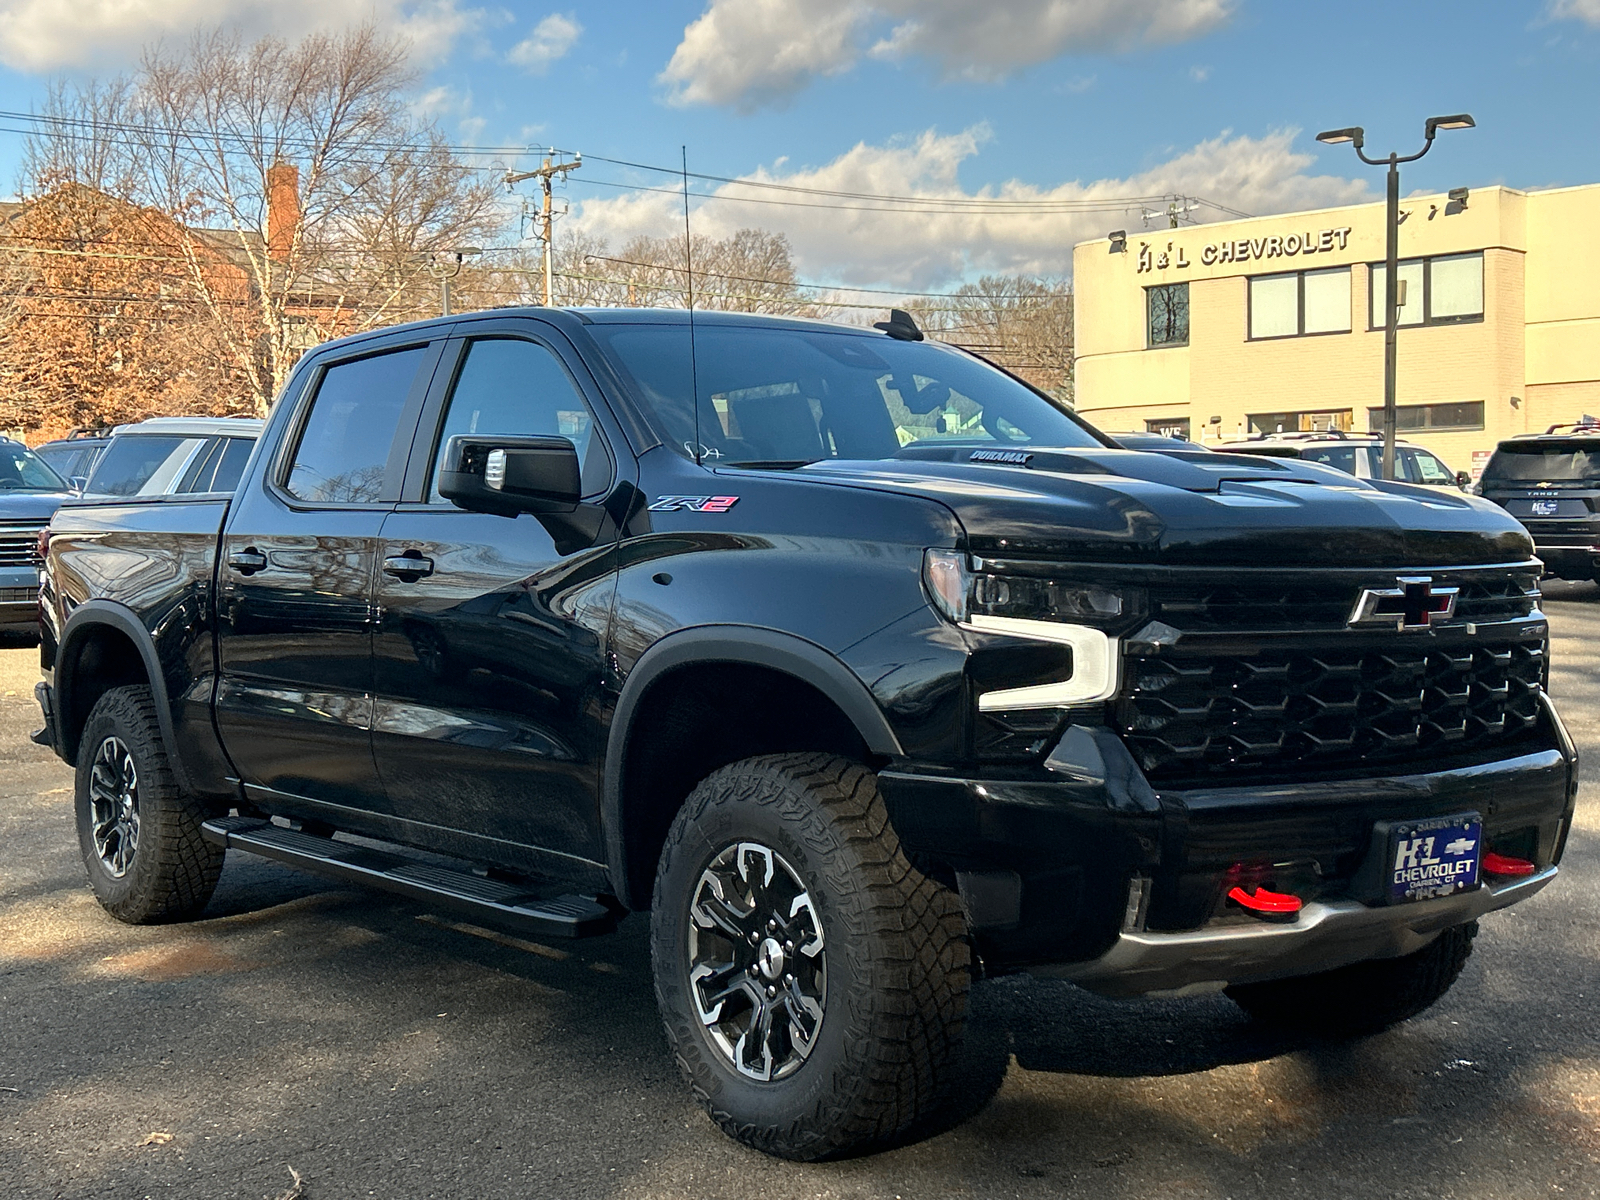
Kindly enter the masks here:
M 986 616 L 1112 629 L 1146 610 L 1138 587 L 974 571 L 960 550 L 926 550 L 922 578 L 934 606 L 958 626 Z

